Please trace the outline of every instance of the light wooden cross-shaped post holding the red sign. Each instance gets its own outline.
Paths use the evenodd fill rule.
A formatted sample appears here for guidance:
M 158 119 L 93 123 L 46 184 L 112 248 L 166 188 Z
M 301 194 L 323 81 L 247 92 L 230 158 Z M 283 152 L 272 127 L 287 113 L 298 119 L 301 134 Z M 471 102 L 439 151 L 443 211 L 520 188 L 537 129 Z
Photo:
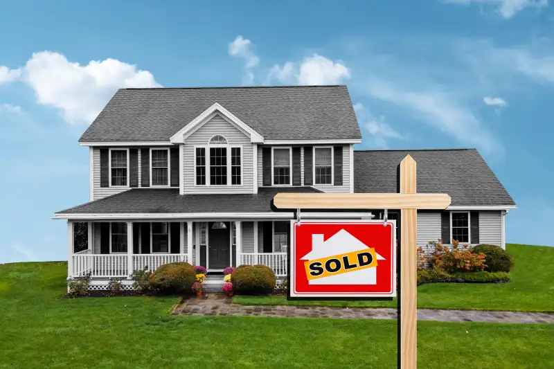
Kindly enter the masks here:
M 445 209 L 446 194 L 418 194 L 415 161 L 406 156 L 400 163 L 400 193 L 279 193 L 274 205 L 285 209 L 400 209 L 400 367 L 415 369 L 417 363 L 417 226 L 418 209 Z

